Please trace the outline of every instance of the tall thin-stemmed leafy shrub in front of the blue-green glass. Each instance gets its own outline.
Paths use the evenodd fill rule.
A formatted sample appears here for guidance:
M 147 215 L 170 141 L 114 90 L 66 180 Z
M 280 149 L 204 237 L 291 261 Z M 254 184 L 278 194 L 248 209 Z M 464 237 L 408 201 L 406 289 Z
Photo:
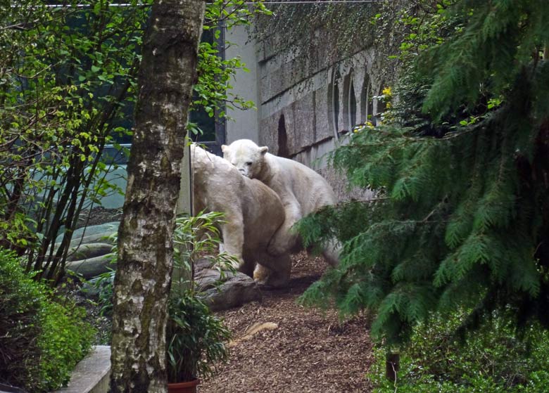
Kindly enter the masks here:
M 131 133 L 147 15 L 141 1 L 131 3 L 30 0 L 0 9 L 11 25 L 0 32 L 0 245 L 52 284 L 63 278 L 80 213 L 121 192 L 102 153 Z

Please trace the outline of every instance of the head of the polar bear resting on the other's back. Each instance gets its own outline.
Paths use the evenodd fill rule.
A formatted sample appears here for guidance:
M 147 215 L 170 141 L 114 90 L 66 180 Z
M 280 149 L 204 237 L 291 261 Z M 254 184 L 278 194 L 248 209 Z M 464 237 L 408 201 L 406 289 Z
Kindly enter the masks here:
M 246 177 L 261 179 L 265 169 L 267 146 L 259 147 L 249 139 L 239 139 L 229 146 L 222 145 L 223 158 L 229 161 Z

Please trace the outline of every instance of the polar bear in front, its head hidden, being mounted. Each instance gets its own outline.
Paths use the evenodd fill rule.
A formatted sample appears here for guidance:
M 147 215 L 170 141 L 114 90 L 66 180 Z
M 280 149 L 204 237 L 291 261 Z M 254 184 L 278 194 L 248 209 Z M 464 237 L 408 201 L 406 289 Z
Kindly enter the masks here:
M 289 253 L 276 258 L 267 254 L 267 245 L 284 222 L 284 207 L 278 195 L 194 144 L 191 168 L 194 212 L 225 214 L 225 223 L 220 225 L 222 245 L 225 252 L 239 259 L 240 265 L 234 267 L 258 283 L 285 285 L 291 269 Z

